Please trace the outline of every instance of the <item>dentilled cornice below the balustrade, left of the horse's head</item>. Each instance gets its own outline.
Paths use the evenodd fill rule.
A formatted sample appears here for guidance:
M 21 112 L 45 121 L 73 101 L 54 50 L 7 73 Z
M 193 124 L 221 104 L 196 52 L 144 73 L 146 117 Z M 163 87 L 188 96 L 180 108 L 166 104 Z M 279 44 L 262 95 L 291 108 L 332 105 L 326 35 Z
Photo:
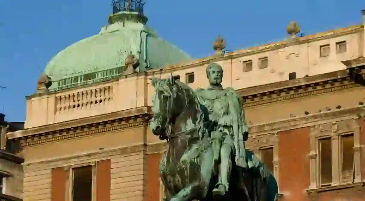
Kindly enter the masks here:
M 137 107 L 109 114 L 11 132 L 7 133 L 7 137 L 9 139 L 16 139 L 22 146 L 29 146 L 94 133 L 143 126 L 147 124 L 150 114 L 150 107 Z

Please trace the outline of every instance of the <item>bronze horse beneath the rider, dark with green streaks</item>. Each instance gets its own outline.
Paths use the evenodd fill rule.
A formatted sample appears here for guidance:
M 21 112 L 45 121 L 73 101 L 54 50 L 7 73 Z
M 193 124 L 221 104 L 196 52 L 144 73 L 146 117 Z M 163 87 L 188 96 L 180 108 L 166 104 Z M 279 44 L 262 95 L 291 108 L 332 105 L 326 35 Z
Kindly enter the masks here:
M 224 197 L 212 193 L 217 177 L 213 173 L 210 122 L 197 95 L 173 76 L 153 78 L 153 117 L 150 127 L 168 149 L 160 162 L 160 178 L 166 201 L 276 201 L 277 183 L 256 156 L 246 150 L 250 168 L 233 164 L 230 189 Z

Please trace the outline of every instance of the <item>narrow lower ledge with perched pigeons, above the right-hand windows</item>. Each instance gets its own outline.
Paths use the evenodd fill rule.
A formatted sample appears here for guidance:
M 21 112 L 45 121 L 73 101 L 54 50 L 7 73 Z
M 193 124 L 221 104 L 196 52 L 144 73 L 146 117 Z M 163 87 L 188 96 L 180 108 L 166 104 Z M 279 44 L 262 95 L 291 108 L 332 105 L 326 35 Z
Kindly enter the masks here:
M 301 117 L 293 117 L 280 121 L 268 122 L 250 126 L 250 136 L 276 133 L 284 130 L 304 128 L 327 122 L 346 119 L 357 119 L 365 116 L 365 106 L 357 106 L 347 109 L 336 109 L 316 114 L 308 114 Z

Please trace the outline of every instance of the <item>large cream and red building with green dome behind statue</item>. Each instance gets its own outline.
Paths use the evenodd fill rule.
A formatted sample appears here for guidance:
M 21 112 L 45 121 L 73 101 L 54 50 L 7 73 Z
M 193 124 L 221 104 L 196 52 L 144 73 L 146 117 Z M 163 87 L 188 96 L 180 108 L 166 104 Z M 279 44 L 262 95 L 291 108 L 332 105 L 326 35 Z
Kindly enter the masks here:
M 206 87 L 197 75 L 213 62 L 245 99 L 247 148 L 280 200 L 365 200 L 364 24 L 298 36 L 291 22 L 285 41 L 225 53 L 218 38 L 215 56 L 191 60 L 146 26 L 139 1 L 113 8 L 110 25 L 52 58 L 24 129 L 6 134 L 22 146 L 24 201 L 162 199 L 149 79 Z

